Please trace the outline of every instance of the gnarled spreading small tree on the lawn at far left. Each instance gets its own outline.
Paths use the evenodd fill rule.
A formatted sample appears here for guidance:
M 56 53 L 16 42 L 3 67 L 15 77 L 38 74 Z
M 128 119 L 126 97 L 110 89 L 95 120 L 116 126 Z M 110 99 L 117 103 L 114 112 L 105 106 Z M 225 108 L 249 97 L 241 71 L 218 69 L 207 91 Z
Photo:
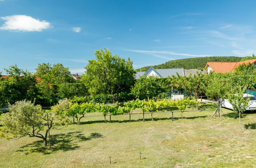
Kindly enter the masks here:
M 0 135 L 7 139 L 24 136 L 38 137 L 43 139 L 44 145 L 47 146 L 50 129 L 68 123 L 66 115 L 61 112 L 65 111 L 63 107 L 58 108 L 59 110 L 42 110 L 40 105 L 34 105 L 26 100 L 17 101 L 13 105 L 9 104 L 10 113 L 3 115 L 4 126 L 1 128 Z M 41 133 L 45 127 L 45 133 Z

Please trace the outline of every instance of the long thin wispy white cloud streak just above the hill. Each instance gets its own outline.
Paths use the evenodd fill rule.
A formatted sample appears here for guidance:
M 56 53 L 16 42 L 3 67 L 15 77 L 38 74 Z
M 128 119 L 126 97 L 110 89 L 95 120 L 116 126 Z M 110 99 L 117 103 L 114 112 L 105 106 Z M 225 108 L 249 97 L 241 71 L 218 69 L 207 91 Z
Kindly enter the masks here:
M 127 51 L 131 51 L 131 52 L 138 52 L 138 53 L 160 53 L 160 54 L 168 54 L 168 55 L 182 55 L 182 56 L 186 56 L 186 57 L 210 57 L 211 55 L 206 55 L 206 54 L 189 54 L 189 53 L 177 53 L 177 52 L 173 52 L 173 51 L 159 51 L 159 50 L 153 50 L 153 51 L 148 51 L 148 50 L 127 50 Z

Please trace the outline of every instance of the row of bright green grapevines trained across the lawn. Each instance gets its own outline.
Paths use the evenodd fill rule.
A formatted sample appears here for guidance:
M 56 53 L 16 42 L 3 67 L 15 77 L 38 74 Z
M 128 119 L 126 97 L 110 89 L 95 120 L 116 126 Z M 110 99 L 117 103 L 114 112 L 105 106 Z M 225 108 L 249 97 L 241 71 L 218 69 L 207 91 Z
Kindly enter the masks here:
M 92 102 L 86 102 L 86 103 L 73 103 L 70 110 L 67 111 L 68 117 L 73 117 L 73 122 L 75 122 L 75 118 L 77 120 L 77 123 L 80 123 L 81 118 L 84 117 L 84 115 L 94 112 L 99 112 L 104 116 L 104 120 L 106 122 L 106 116 L 107 115 L 123 115 L 127 114 L 129 115 L 129 119 L 131 121 L 131 115 L 133 114 L 133 111 L 136 108 L 140 108 L 143 111 L 143 121 L 144 121 L 144 114 L 145 113 L 151 113 L 151 117 L 153 120 L 153 113 L 157 112 L 159 108 L 166 108 L 166 107 L 177 107 L 181 111 L 181 116 L 186 109 L 188 105 L 195 105 L 198 101 L 190 100 L 190 99 L 184 99 L 184 100 L 161 100 L 161 101 L 155 101 L 155 100 L 132 100 L 129 102 L 125 102 L 122 105 L 108 105 L 108 104 L 100 104 L 100 103 L 92 103 Z

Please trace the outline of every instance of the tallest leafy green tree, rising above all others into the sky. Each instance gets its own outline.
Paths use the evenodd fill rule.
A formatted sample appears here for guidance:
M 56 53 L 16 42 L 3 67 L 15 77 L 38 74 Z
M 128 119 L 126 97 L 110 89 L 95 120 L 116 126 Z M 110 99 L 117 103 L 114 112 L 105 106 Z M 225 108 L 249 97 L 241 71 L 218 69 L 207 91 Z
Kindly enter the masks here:
M 95 60 L 89 60 L 85 67 L 86 75 L 82 81 L 86 84 L 89 93 L 110 94 L 113 101 L 116 102 L 119 93 L 130 89 L 134 82 L 135 71 L 133 62 L 112 55 L 110 50 L 95 51 Z

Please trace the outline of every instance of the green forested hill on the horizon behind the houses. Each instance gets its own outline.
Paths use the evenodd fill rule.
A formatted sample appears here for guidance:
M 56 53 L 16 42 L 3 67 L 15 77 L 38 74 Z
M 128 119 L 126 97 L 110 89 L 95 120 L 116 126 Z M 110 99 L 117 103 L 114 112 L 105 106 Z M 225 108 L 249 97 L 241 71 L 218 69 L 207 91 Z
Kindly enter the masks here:
M 242 57 L 200 57 L 168 61 L 164 64 L 152 66 L 155 69 L 184 68 L 202 69 L 207 62 L 240 62 Z M 146 71 L 151 66 L 139 68 L 136 71 Z

